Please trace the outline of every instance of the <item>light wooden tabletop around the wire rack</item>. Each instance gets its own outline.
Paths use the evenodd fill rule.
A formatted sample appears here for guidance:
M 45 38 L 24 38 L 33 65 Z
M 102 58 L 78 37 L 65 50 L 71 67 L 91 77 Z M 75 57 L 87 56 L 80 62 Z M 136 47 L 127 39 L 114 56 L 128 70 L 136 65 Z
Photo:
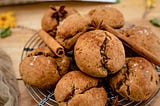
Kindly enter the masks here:
M 19 63 L 21 60 L 22 49 L 27 40 L 35 33 L 35 31 L 41 28 L 41 18 L 50 4 L 53 4 L 55 6 L 66 5 L 69 7 L 73 7 L 82 14 L 85 14 L 90 9 L 98 6 L 113 6 L 123 13 L 126 22 L 151 27 L 153 32 L 160 37 L 160 28 L 152 26 L 148 21 L 153 17 L 160 17 L 160 0 L 155 1 L 156 7 L 151 10 L 146 19 L 142 18 L 142 15 L 145 11 L 145 0 L 121 0 L 121 3 L 118 4 L 91 2 L 47 2 L 0 7 L 0 12 L 13 11 L 16 16 L 17 25 L 28 28 L 14 28 L 10 37 L 7 37 L 5 39 L 0 38 L 0 48 L 2 48 L 11 56 L 16 78 L 21 79 L 19 75 Z M 23 81 L 18 80 L 18 83 L 20 90 L 19 106 L 37 106 L 32 97 L 26 91 Z M 150 105 L 159 106 L 159 99 L 160 93 L 155 97 Z

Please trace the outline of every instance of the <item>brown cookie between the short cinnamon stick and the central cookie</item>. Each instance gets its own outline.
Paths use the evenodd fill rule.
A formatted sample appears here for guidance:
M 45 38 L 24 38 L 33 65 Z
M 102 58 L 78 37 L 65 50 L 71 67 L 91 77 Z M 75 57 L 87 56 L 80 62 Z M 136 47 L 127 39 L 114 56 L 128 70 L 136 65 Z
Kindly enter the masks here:
M 57 27 L 56 40 L 66 50 L 73 49 L 78 37 L 86 32 L 91 20 L 89 17 L 80 14 L 73 14 L 65 18 Z

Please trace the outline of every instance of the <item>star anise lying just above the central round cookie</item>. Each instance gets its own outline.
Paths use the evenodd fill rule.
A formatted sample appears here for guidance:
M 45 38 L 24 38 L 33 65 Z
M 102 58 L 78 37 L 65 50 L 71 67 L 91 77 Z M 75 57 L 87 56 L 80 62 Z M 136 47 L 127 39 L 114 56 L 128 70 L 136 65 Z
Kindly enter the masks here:
M 95 21 L 92 20 L 91 24 L 89 24 L 88 30 L 96 30 L 96 29 L 101 29 L 101 30 L 105 30 L 104 26 L 103 26 L 103 20 L 101 21 Z

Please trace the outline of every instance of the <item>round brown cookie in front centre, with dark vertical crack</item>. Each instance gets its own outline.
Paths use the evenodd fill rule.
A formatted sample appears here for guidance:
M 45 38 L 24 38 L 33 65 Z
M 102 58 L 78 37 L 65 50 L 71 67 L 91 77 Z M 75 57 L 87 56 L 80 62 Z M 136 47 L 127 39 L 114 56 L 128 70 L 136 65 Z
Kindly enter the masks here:
M 121 41 L 113 34 L 94 30 L 79 37 L 74 56 L 81 71 L 94 77 L 106 77 L 123 66 L 125 52 Z

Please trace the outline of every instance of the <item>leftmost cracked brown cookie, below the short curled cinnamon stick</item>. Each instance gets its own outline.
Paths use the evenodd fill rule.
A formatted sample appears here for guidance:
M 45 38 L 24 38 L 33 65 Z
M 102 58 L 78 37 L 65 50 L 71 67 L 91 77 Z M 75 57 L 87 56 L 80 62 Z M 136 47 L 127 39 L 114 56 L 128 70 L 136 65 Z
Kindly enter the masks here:
M 48 47 L 38 47 L 28 53 L 20 63 L 20 74 L 29 85 L 49 89 L 68 72 L 70 59 L 56 57 Z

